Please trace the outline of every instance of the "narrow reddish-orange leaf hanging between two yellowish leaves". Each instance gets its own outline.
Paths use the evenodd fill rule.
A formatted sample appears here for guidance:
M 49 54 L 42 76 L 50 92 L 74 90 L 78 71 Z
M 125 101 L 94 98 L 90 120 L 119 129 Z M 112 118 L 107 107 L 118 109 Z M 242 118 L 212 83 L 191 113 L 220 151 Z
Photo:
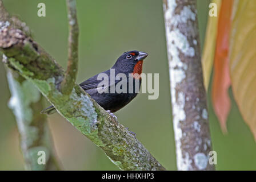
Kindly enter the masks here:
M 219 13 L 216 51 L 214 57 L 214 76 L 212 100 L 214 111 L 221 123 L 221 129 L 227 132 L 226 119 L 230 111 L 229 98 L 229 33 L 233 0 L 222 1 Z

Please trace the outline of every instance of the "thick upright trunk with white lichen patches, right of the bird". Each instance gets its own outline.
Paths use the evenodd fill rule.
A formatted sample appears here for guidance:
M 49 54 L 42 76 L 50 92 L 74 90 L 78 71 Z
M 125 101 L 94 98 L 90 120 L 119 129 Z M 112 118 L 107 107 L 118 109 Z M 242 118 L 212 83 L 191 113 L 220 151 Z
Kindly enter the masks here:
M 214 170 L 196 0 L 163 0 L 179 170 Z

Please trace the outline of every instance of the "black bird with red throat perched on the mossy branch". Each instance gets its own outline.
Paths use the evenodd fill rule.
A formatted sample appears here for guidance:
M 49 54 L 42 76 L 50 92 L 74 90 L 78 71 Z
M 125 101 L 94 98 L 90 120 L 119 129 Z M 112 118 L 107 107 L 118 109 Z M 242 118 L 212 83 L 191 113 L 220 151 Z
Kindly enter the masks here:
M 138 90 L 136 89 L 135 83 L 139 83 L 139 86 L 137 89 L 141 88 L 141 73 L 142 73 L 142 65 L 143 60 L 148 56 L 146 52 L 142 51 L 127 51 L 124 52 L 121 56 L 118 57 L 117 61 L 107 71 L 98 73 L 97 75 L 94 75 L 93 77 L 90 77 L 89 79 L 81 82 L 79 86 L 83 90 L 85 90 L 86 93 L 88 93 L 91 98 L 93 98 L 103 109 L 105 109 L 107 112 L 113 114 L 116 111 L 122 109 L 124 106 L 129 104 L 138 94 Z M 115 79 L 114 82 L 111 83 L 111 78 L 108 79 L 105 84 L 106 86 L 101 87 L 99 84 L 101 84 L 102 79 L 99 79 L 99 76 L 108 76 L 111 77 L 111 72 L 114 76 L 122 75 L 126 76 L 127 81 L 127 92 L 117 92 L 117 90 L 114 90 L 114 92 L 111 92 L 111 86 L 117 86 L 118 83 L 120 85 L 121 81 L 123 81 L 120 78 L 119 80 Z M 131 80 L 133 81 L 132 84 L 129 84 L 129 76 L 132 76 Z M 123 89 L 123 86 L 125 84 L 121 85 L 120 88 Z M 107 89 L 109 92 L 99 92 L 99 88 L 102 90 Z M 124 87 L 125 88 L 125 87 Z M 128 89 L 132 89 L 132 92 L 128 92 Z M 55 113 L 54 106 L 49 106 L 46 109 L 42 110 L 41 113 L 43 114 L 53 114 Z

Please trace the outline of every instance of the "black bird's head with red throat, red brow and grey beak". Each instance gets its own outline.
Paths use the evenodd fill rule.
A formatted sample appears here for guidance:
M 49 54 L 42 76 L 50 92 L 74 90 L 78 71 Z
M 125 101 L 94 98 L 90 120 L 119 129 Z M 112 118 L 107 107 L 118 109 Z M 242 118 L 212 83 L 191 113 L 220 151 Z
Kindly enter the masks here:
M 142 73 L 143 60 L 148 56 L 146 52 L 142 51 L 128 51 L 124 52 L 115 62 L 112 68 L 118 72 L 123 73 Z

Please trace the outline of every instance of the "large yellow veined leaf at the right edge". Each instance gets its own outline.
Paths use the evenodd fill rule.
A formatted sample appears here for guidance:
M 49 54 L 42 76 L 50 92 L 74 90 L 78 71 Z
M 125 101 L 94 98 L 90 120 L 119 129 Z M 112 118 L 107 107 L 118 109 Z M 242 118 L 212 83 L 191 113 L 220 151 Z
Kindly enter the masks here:
M 230 34 L 231 84 L 242 117 L 256 140 L 256 1 L 235 2 Z

